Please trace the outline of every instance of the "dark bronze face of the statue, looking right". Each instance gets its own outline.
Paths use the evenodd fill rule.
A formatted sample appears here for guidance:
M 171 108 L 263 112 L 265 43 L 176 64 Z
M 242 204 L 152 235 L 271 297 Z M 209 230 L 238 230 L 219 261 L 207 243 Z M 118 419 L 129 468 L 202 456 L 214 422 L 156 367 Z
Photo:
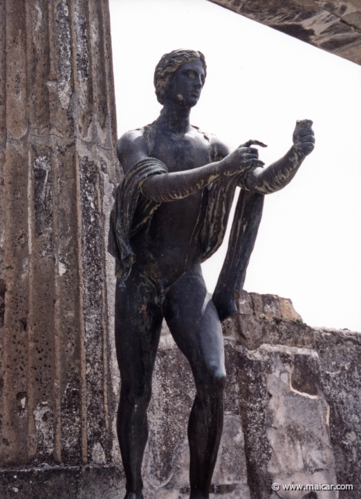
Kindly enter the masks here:
M 176 71 L 165 88 L 164 103 L 173 101 L 185 107 L 193 107 L 201 96 L 205 72 L 200 59 L 185 62 Z

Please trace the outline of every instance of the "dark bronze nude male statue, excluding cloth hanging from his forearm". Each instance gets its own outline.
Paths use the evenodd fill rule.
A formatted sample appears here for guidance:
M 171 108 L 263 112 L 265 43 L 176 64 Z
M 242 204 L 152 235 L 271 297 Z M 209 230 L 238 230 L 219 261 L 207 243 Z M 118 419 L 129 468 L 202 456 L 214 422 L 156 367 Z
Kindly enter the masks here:
M 127 478 L 124 499 L 143 498 L 147 407 L 163 317 L 196 385 L 188 426 L 190 498 L 209 498 L 223 425 L 225 366 L 221 314 L 205 288 L 201 262 L 222 242 L 235 186 L 260 198 L 281 189 L 315 142 L 312 122 L 305 120 L 297 122 L 290 150 L 268 168 L 249 147 L 262 143 L 249 141 L 230 152 L 189 124 L 205 76 L 201 52 L 163 55 L 154 76 L 160 116 L 125 133 L 117 146 L 124 179 L 111 213 L 109 251 L 118 277 L 117 430 Z

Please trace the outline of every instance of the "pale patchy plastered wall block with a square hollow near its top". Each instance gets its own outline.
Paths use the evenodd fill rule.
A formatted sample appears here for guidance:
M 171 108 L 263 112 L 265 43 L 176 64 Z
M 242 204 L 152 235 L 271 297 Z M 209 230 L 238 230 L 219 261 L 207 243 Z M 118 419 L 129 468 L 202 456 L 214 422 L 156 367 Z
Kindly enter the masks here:
M 306 497 L 271 484 L 336 484 L 329 408 L 315 351 L 263 344 L 237 347 L 240 408 L 252 499 Z M 333 499 L 338 493 L 322 492 Z

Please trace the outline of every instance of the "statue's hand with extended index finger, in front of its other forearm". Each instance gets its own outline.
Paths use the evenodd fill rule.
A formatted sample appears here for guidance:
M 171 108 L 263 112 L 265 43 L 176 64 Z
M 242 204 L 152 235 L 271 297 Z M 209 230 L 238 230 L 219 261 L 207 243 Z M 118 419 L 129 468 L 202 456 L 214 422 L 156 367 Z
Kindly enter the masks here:
M 257 144 L 261 147 L 267 147 L 265 144 L 259 141 L 251 140 L 241 146 L 236 150 L 231 152 L 228 156 L 221 160 L 223 175 L 230 177 L 239 173 L 241 171 L 247 171 L 256 166 L 263 166 L 263 161 L 258 159 L 258 150 L 256 148 L 249 147 L 251 144 Z

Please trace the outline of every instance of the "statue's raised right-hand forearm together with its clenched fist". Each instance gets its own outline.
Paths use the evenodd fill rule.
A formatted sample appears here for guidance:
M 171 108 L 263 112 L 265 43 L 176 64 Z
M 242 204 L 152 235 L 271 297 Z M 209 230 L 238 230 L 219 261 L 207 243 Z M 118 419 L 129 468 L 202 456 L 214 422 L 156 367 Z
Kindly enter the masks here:
M 278 161 L 268 168 L 254 168 L 242 179 L 242 186 L 248 191 L 270 194 L 286 186 L 295 177 L 304 158 L 315 147 L 311 120 L 297 121 L 293 132 L 293 146 Z

